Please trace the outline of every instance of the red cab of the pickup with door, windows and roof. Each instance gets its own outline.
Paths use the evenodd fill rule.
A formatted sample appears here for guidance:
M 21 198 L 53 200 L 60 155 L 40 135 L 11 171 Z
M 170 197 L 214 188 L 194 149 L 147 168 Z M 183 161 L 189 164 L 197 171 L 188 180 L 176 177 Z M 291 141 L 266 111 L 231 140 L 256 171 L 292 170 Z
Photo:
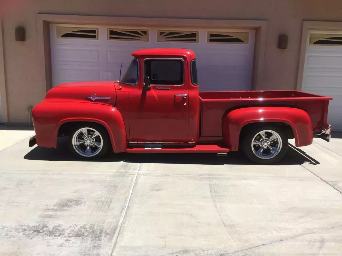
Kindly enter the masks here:
M 184 49 L 149 49 L 132 55 L 117 90 L 118 98 L 129 94 L 129 142 L 196 142 L 199 90 L 195 54 Z

